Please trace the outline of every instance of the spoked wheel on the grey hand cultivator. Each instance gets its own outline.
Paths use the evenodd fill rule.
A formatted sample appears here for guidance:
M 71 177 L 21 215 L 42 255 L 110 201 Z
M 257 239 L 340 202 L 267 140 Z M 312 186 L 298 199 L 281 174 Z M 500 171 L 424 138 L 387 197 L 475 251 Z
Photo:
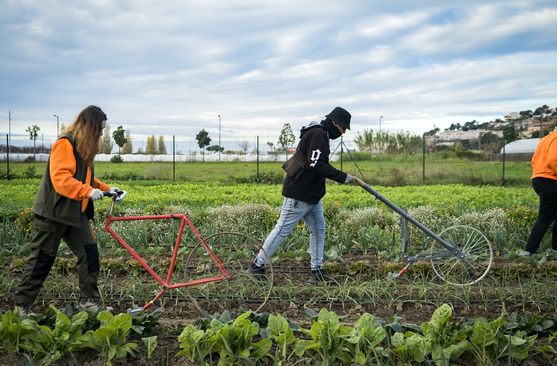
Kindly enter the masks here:
M 454 286 L 470 286 L 481 281 L 493 262 L 493 249 L 485 235 L 471 226 L 456 225 L 439 233 L 439 238 L 458 248 L 465 258 L 455 255 L 429 260 L 435 274 Z M 437 241 L 431 245 L 431 253 L 446 250 Z

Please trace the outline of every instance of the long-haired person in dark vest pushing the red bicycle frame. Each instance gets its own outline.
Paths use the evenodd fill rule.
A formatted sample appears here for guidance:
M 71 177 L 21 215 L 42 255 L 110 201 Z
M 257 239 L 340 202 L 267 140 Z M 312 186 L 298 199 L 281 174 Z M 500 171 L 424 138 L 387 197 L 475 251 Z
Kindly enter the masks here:
M 97 285 L 99 249 L 89 220 L 94 214 L 92 201 L 102 200 L 102 191 L 118 191 L 94 174 L 93 160 L 105 126 L 105 113 L 97 106 L 89 106 L 52 145 L 33 204 L 36 234 L 31 240 L 31 255 L 15 293 L 21 314 L 36 315 L 33 304 L 62 238 L 77 257 L 80 305 L 91 313 L 104 306 Z M 114 313 L 113 308 L 107 310 Z

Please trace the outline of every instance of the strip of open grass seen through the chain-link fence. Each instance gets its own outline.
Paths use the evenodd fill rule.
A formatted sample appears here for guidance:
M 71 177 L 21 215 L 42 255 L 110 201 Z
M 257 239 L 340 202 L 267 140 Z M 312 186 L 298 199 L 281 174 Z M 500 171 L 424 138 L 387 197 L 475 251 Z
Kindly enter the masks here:
M 345 157 L 348 155 L 345 154 Z M 421 156 L 397 156 L 376 161 L 344 160 L 342 170 L 363 177 L 369 184 L 381 186 L 465 184 L 502 185 L 502 162 L 468 161 L 466 159 L 433 159 L 426 156 L 425 172 Z M 406 159 L 404 159 L 406 158 Z M 340 169 L 340 162 L 331 165 Z M 10 163 L 12 178 L 42 176 L 46 163 Z M 280 184 L 284 179 L 282 162 L 260 162 L 262 182 Z M 33 170 L 34 169 L 34 170 Z M 360 174 L 361 171 L 361 174 Z M 532 168 L 529 162 L 505 164 L 505 186 L 529 187 Z M 6 166 L 0 166 L 0 176 L 6 175 Z M 116 180 L 176 180 L 182 182 L 253 182 L 257 177 L 256 162 L 111 162 L 95 163 L 95 175 Z

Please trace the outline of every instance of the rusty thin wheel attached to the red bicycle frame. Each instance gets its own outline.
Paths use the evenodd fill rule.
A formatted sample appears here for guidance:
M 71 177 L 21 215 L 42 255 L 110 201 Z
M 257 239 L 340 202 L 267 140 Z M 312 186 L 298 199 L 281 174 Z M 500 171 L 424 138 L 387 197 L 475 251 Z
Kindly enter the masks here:
M 250 236 L 229 231 L 209 235 L 204 240 L 217 255 L 231 279 L 187 286 L 185 291 L 192 304 L 197 309 L 201 309 L 198 301 L 221 300 L 226 303 L 228 301 L 243 302 L 247 300 L 245 304 L 242 304 L 245 310 L 249 308 L 256 313 L 261 310 L 271 296 L 274 279 L 271 258 L 263 250 L 261 244 Z M 246 269 L 253 263 L 253 255 L 257 255 L 260 249 L 263 250 L 268 260 L 267 280 L 261 281 L 245 273 Z M 220 273 L 221 271 L 201 243 L 194 246 L 188 255 L 188 260 L 185 262 L 185 281 L 210 278 L 218 276 Z

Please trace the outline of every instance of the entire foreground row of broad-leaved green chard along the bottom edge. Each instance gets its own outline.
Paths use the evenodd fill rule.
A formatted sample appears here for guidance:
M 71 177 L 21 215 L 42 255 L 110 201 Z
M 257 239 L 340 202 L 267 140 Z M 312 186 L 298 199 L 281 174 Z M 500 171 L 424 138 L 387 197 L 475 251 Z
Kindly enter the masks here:
M 65 309 L 51 306 L 39 318 L 21 315 L 17 308 L 13 313 L 8 311 L 0 319 L 0 349 L 12 354 L 28 352 L 34 359 L 44 358 L 43 364 L 91 349 L 110 366 L 113 359 L 136 357 L 138 344 L 126 343 L 126 338 L 130 332 L 144 335 L 147 326 L 157 333 L 157 320 L 164 309 L 141 317 L 126 313 L 113 316 L 101 309 L 96 314 L 80 309 L 72 315 L 72 310 L 70 305 Z M 218 365 L 232 366 L 273 360 L 281 365 L 297 357 L 328 366 L 414 362 L 444 366 L 467 352 L 481 364 L 494 365 L 521 362 L 531 354 L 548 359 L 557 354 L 550 344 L 536 342 L 540 336 L 549 336 L 549 342 L 555 339 L 556 315 L 524 317 L 512 313 L 508 320 L 502 314 L 453 322 L 451 306 L 443 304 L 421 325 L 406 323 L 396 315 L 383 320 L 365 313 L 354 327 L 347 327 L 341 324 L 346 316 L 306 308 L 311 328 L 304 329 L 278 313 L 239 309 L 234 319 L 228 310 L 214 316 L 201 311 L 204 318 L 188 324 L 178 336 L 182 350 L 175 357 L 184 357 L 190 364 L 213 365 L 218 360 Z M 254 338 L 260 340 L 254 342 Z M 150 358 L 157 337 L 142 340 Z M 276 348 L 271 353 L 273 343 Z

